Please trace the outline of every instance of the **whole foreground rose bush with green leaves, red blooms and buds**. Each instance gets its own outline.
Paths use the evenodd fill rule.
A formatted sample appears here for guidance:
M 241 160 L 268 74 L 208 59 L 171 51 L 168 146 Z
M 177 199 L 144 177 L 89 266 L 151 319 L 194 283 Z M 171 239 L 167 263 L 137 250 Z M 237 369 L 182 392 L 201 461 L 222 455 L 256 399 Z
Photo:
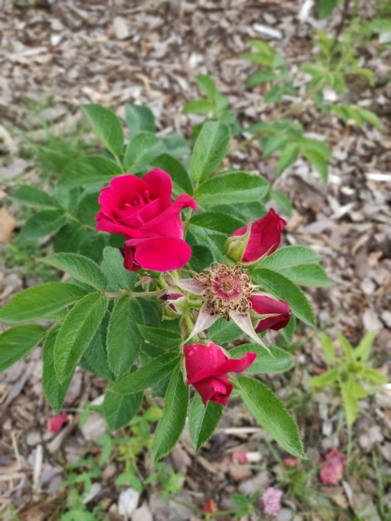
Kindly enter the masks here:
M 292 367 L 294 357 L 278 346 L 280 337 L 290 342 L 294 333 L 294 320 L 283 329 L 290 309 L 316 325 L 297 283 L 328 285 L 319 257 L 305 246 L 275 252 L 285 221 L 274 210 L 266 213 L 267 181 L 219 168 L 228 127 L 206 122 L 182 164 L 178 158 L 190 154 L 183 140 L 135 130 L 133 116 L 143 118 L 148 109 L 128 109 L 129 143 L 115 114 L 88 105 L 84 111 L 105 153 L 70 162 L 54 197 L 29 187 L 16 191 L 19 201 L 41 208 L 23 233 L 56 233 L 55 253 L 40 262 L 69 279 L 28 288 L 0 309 L 0 320 L 13 325 L 0 334 L 0 370 L 42 344 L 43 390 L 53 410 L 67 407 L 67 390 L 81 367 L 108 382 L 102 411 L 112 430 L 129 424 L 143 391 L 151 389 L 165 399 L 153 464 L 174 447 L 187 416 L 199 450 L 235 387 L 263 429 L 303 457 L 294 419 L 252 375 Z M 151 165 L 158 168 L 143 175 Z M 245 226 L 252 212 L 266 215 Z M 259 336 L 267 328 L 281 330 L 277 345 Z M 228 377 L 244 369 L 246 375 Z M 190 386 L 197 391 L 192 397 Z

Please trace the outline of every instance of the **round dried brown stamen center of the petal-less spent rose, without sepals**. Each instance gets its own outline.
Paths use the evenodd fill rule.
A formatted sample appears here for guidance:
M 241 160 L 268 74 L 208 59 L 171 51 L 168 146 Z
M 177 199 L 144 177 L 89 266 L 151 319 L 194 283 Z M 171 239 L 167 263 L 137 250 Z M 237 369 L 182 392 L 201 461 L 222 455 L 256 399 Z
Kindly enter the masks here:
M 204 288 L 205 306 L 212 315 L 229 318 L 230 311 L 246 315 L 250 308 L 251 280 L 239 266 L 215 264 L 194 277 Z

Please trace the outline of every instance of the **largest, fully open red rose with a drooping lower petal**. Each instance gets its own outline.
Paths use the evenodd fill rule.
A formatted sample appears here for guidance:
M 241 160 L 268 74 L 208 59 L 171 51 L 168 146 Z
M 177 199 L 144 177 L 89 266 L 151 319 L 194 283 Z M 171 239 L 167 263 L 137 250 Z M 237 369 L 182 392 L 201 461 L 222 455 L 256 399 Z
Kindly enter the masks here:
M 197 204 L 190 195 L 171 201 L 172 181 L 167 172 L 155 168 L 142 179 L 115 177 L 99 196 L 101 210 L 96 229 L 125 236 L 124 266 L 168 271 L 184 266 L 190 246 L 183 240 L 180 212 Z

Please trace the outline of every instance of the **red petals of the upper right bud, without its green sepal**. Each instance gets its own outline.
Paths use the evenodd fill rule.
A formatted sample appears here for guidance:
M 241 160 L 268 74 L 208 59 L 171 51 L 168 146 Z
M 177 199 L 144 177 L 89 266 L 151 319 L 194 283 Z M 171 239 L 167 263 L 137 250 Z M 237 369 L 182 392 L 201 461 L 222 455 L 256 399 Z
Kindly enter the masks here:
M 255 262 L 266 252 L 270 255 L 276 251 L 284 228 L 285 220 L 279 217 L 273 209 L 269 210 L 258 221 L 252 222 L 250 225 L 250 236 L 240 259 L 241 262 Z M 246 235 L 247 231 L 247 226 L 242 226 L 235 230 L 231 237 Z

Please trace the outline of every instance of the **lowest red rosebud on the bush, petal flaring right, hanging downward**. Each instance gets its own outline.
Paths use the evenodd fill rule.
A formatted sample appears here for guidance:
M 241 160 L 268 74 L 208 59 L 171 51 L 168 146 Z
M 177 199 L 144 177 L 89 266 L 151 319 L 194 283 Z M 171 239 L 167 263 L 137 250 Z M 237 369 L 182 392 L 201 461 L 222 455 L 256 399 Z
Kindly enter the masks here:
M 241 373 L 255 360 L 255 353 L 246 353 L 242 358 L 228 358 L 223 348 L 209 342 L 208 345 L 185 345 L 185 367 L 187 384 L 201 395 L 202 402 L 225 405 L 233 390 L 227 373 Z

